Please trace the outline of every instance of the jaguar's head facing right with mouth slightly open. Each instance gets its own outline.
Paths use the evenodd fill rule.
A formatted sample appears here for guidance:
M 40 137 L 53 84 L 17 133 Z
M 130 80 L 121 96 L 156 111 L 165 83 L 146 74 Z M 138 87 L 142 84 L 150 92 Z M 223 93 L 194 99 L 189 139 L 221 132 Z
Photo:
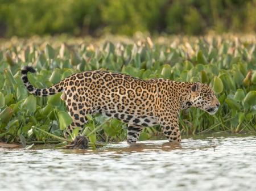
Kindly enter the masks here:
M 200 82 L 192 84 L 190 102 L 191 106 L 200 108 L 209 114 L 215 114 L 220 106 L 220 101 L 214 95 L 212 88 Z

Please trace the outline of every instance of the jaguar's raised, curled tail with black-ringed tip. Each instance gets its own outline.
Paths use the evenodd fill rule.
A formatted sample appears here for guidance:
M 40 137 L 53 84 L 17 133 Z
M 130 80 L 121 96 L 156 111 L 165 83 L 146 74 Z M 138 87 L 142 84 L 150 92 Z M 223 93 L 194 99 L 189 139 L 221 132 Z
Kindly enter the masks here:
M 34 94 L 36 96 L 48 96 L 48 95 L 57 94 L 58 92 L 63 90 L 63 82 L 59 82 L 49 88 L 44 88 L 44 89 L 35 88 L 34 86 L 32 86 L 30 82 L 28 82 L 28 78 L 27 78 L 28 71 L 30 71 L 31 73 L 35 73 L 36 70 L 31 66 L 25 66 L 21 71 L 23 83 L 26 86 L 28 92 L 30 92 L 31 94 Z

